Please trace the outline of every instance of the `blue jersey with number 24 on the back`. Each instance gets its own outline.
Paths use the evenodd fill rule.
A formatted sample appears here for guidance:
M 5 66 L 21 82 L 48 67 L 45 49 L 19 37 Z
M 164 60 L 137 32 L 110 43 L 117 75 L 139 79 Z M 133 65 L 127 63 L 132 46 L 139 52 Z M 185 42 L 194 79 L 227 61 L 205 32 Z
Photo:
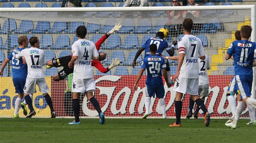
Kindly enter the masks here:
M 143 59 L 141 68 L 147 69 L 147 86 L 163 85 L 162 69 L 166 68 L 165 59 L 158 55 L 149 55 Z

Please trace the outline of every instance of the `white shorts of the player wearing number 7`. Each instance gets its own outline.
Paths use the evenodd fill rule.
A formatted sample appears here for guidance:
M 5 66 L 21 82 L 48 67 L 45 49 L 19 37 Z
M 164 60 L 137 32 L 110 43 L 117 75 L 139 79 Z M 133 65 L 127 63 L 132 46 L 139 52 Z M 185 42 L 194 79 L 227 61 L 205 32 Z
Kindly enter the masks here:
M 199 79 L 193 78 L 178 78 L 174 83 L 174 90 L 183 93 L 183 94 L 190 94 L 190 95 L 198 95 L 198 83 Z

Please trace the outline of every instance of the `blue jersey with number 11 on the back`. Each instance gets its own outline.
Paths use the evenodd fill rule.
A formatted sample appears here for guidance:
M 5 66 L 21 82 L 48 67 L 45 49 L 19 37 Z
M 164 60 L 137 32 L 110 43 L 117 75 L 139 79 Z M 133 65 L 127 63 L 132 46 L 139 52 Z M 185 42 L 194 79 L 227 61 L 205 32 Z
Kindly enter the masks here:
M 248 40 L 237 40 L 228 47 L 227 54 L 234 57 L 235 75 L 252 76 L 252 62 L 256 59 L 256 43 Z

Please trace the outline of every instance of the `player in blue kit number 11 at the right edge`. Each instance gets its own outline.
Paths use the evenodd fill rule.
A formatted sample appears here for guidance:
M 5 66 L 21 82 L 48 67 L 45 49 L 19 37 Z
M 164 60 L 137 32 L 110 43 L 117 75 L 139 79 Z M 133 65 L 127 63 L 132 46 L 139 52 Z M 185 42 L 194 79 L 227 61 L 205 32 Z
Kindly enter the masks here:
M 256 44 L 250 42 L 249 37 L 252 33 L 252 27 L 244 25 L 241 27 L 241 40 L 236 40 L 231 43 L 225 55 L 228 60 L 233 56 L 234 59 L 234 82 L 231 85 L 236 87 L 240 98 L 237 99 L 236 114 L 234 120 L 225 125 L 229 128 L 236 129 L 237 121 L 243 111 L 244 103 L 256 107 L 256 99 L 250 98 L 252 90 L 253 70 L 252 67 L 256 64 Z M 230 89 L 232 90 L 232 89 Z

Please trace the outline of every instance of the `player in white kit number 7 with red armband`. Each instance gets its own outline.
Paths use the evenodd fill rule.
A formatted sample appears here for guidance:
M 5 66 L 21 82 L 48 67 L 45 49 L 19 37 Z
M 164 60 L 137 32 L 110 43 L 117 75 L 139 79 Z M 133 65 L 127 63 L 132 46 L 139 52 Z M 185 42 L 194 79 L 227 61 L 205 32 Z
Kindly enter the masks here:
M 179 58 L 176 74 L 174 75 L 174 90 L 176 91 L 175 98 L 175 114 L 176 122 L 170 124 L 170 127 L 181 126 L 180 116 L 182 110 L 183 94 L 190 94 L 191 99 L 204 112 L 204 125 L 210 125 L 210 114 L 208 113 L 204 101 L 198 95 L 198 54 L 200 59 L 205 59 L 204 48 L 202 41 L 191 34 L 193 28 L 192 19 L 184 19 L 182 22 L 184 36 L 178 40 Z

